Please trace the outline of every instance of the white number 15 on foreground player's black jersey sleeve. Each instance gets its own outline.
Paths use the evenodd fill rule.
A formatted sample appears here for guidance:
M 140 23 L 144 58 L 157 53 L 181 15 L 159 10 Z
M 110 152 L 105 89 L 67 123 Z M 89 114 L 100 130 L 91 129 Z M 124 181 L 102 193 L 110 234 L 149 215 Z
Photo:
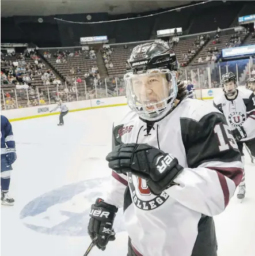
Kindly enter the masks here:
M 214 132 L 218 137 L 220 151 L 228 150 L 230 147 L 238 149 L 237 142 L 235 141 L 229 126 L 223 124 L 215 125 Z

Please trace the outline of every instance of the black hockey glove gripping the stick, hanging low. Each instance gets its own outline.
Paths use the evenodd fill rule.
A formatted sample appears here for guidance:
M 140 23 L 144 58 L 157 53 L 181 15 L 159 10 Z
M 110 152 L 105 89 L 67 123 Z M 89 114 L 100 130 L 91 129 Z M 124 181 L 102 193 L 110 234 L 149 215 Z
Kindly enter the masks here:
M 102 251 L 105 250 L 109 241 L 115 240 L 112 225 L 117 211 L 116 206 L 107 204 L 100 198 L 97 198 L 95 204 L 91 206 L 87 232 L 92 240 L 97 236 L 96 246 Z

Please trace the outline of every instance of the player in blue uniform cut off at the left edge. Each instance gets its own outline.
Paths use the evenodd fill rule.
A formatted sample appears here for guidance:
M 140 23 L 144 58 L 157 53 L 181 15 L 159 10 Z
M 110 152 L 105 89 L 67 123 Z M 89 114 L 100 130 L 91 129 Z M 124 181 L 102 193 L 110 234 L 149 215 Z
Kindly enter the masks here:
M 14 199 L 9 197 L 10 174 L 12 164 L 16 161 L 16 148 L 13 138 L 12 125 L 1 115 L 1 204 L 13 205 Z

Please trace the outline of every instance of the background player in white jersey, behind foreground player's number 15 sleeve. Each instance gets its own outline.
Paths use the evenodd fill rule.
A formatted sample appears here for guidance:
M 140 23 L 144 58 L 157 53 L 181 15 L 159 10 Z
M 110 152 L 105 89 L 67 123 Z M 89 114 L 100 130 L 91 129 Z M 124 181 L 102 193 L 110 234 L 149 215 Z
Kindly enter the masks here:
M 232 72 L 222 76 L 222 89 L 222 95 L 214 98 L 214 106 L 226 116 L 241 152 L 244 167 L 243 142 L 248 146 L 252 159 L 255 159 L 255 95 L 248 89 L 238 90 L 237 78 Z M 245 197 L 244 171 L 237 197 Z

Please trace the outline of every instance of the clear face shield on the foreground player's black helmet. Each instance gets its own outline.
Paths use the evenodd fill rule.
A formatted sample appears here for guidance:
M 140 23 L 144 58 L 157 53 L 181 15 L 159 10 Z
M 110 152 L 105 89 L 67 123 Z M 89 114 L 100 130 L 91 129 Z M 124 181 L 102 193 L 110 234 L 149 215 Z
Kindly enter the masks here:
M 176 73 L 169 69 L 150 69 L 141 74 L 127 73 L 124 81 L 128 105 L 141 114 L 158 116 L 176 99 Z

